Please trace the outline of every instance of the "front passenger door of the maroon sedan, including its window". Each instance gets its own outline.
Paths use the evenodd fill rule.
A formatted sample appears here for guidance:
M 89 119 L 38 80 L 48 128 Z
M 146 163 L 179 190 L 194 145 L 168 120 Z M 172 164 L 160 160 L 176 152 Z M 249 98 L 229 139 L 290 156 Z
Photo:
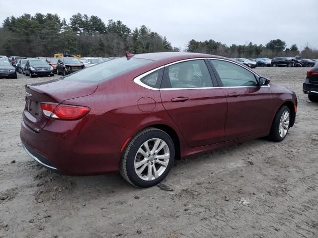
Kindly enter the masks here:
M 259 86 L 254 73 L 227 60 L 210 60 L 228 102 L 226 140 L 266 132 L 273 118 L 269 85 Z

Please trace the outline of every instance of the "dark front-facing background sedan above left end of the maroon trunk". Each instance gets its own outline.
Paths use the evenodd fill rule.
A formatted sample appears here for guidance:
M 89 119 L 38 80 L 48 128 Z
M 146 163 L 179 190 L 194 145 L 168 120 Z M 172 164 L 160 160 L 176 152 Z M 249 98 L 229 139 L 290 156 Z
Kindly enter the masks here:
M 31 78 L 34 76 L 54 76 L 53 67 L 45 60 L 27 60 L 24 70 L 25 75 L 29 75 Z

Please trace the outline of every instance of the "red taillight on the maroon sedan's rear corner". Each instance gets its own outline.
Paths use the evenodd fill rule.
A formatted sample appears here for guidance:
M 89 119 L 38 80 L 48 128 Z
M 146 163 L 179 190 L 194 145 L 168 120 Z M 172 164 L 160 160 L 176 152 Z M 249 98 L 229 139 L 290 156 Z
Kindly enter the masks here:
M 60 120 L 76 120 L 84 117 L 90 109 L 83 106 L 73 106 L 57 103 L 41 103 L 43 114 Z

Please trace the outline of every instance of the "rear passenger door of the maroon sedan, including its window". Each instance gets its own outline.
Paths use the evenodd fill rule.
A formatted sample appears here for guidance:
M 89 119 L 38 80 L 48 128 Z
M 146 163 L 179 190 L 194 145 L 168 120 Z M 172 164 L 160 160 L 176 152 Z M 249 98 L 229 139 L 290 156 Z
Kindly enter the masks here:
M 161 101 L 190 147 L 222 142 L 225 137 L 227 101 L 214 87 L 217 81 L 207 63 L 183 60 L 164 68 Z

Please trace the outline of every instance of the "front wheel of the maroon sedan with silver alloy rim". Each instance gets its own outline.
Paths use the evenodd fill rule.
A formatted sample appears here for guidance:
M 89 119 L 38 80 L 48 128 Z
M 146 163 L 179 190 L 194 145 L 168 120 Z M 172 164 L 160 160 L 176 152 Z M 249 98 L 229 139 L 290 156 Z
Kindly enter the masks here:
M 284 116 L 286 113 L 288 115 L 288 118 Z M 285 139 L 290 127 L 290 119 L 291 114 L 289 108 L 286 105 L 282 106 L 277 111 L 272 123 L 272 127 L 269 134 L 269 138 L 272 141 L 280 142 Z

